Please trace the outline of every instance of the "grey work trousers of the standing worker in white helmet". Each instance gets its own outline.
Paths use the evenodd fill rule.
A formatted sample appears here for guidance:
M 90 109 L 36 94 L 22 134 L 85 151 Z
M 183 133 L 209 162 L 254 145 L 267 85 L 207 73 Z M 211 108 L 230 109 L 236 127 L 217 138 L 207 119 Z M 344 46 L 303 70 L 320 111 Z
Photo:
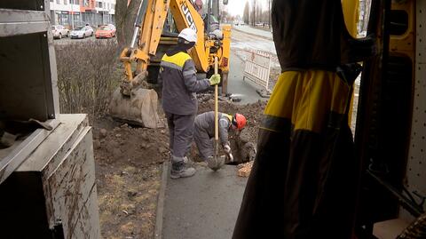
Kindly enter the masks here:
M 169 125 L 171 154 L 183 158 L 191 149 L 195 115 L 176 115 L 169 112 L 165 114 Z

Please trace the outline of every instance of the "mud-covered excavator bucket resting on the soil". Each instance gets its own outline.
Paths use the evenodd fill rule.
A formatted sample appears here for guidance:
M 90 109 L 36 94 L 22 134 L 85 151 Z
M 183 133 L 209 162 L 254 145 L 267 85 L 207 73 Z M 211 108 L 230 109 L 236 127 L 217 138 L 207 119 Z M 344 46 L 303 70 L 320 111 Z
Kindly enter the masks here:
M 156 129 L 164 126 L 157 114 L 157 102 L 158 95 L 154 90 L 138 87 L 126 96 L 118 88 L 113 93 L 109 114 L 118 121 Z

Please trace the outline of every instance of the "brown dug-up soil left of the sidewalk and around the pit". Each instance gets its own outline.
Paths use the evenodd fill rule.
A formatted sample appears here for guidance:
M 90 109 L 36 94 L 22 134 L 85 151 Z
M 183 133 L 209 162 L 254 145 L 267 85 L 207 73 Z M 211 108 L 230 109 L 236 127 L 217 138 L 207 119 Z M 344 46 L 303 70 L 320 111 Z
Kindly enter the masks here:
M 209 95 L 201 96 L 199 113 L 213 110 L 213 106 Z M 264 106 L 264 102 L 219 103 L 221 112 L 238 112 L 248 119 L 238 136 L 230 136 L 234 157 L 241 162 L 253 159 Z M 169 131 L 133 128 L 104 118 L 94 123 L 93 140 L 102 236 L 153 238 L 161 164 L 170 157 Z M 195 147 L 191 156 L 199 159 Z

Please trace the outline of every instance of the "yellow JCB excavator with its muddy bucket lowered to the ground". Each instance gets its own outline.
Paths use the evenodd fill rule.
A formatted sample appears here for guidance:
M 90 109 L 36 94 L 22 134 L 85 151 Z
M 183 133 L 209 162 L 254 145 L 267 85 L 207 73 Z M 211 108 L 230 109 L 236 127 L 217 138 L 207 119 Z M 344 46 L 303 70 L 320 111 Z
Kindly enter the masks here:
M 231 26 L 220 30 L 217 25 L 210 24 L 215 17 L 212 9 L 218 13 L 217 1 L 209 0 L 204 20 L 192 0 L 141 1 L 131 44 L 120 55 L 126 77 L 113 93 L 110 115 L 114 119 L 147 128 L 162 126 L 157 115 L 157 92 L 147 89 L 147 84 L 156 84 L 162 55 L 177 44 L 177 33 L 184 28 L 193 28 L 197 32 L 199 40 L 190 55 L 198 72 L 212 75 L 217 58 L 222 93 L 226 92 Z M 223 3 L 227 4 L 227 0 Z

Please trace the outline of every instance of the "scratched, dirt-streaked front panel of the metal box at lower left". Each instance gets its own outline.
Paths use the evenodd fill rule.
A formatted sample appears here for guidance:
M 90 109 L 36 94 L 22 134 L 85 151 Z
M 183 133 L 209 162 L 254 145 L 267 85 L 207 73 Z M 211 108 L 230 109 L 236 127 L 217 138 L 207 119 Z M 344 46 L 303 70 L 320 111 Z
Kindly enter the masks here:
M 53 207 L 51 216 L 61 220 L 65 238 L 99 238 L 91 127 L 81 132 L 46 183 L 46 201 Z

